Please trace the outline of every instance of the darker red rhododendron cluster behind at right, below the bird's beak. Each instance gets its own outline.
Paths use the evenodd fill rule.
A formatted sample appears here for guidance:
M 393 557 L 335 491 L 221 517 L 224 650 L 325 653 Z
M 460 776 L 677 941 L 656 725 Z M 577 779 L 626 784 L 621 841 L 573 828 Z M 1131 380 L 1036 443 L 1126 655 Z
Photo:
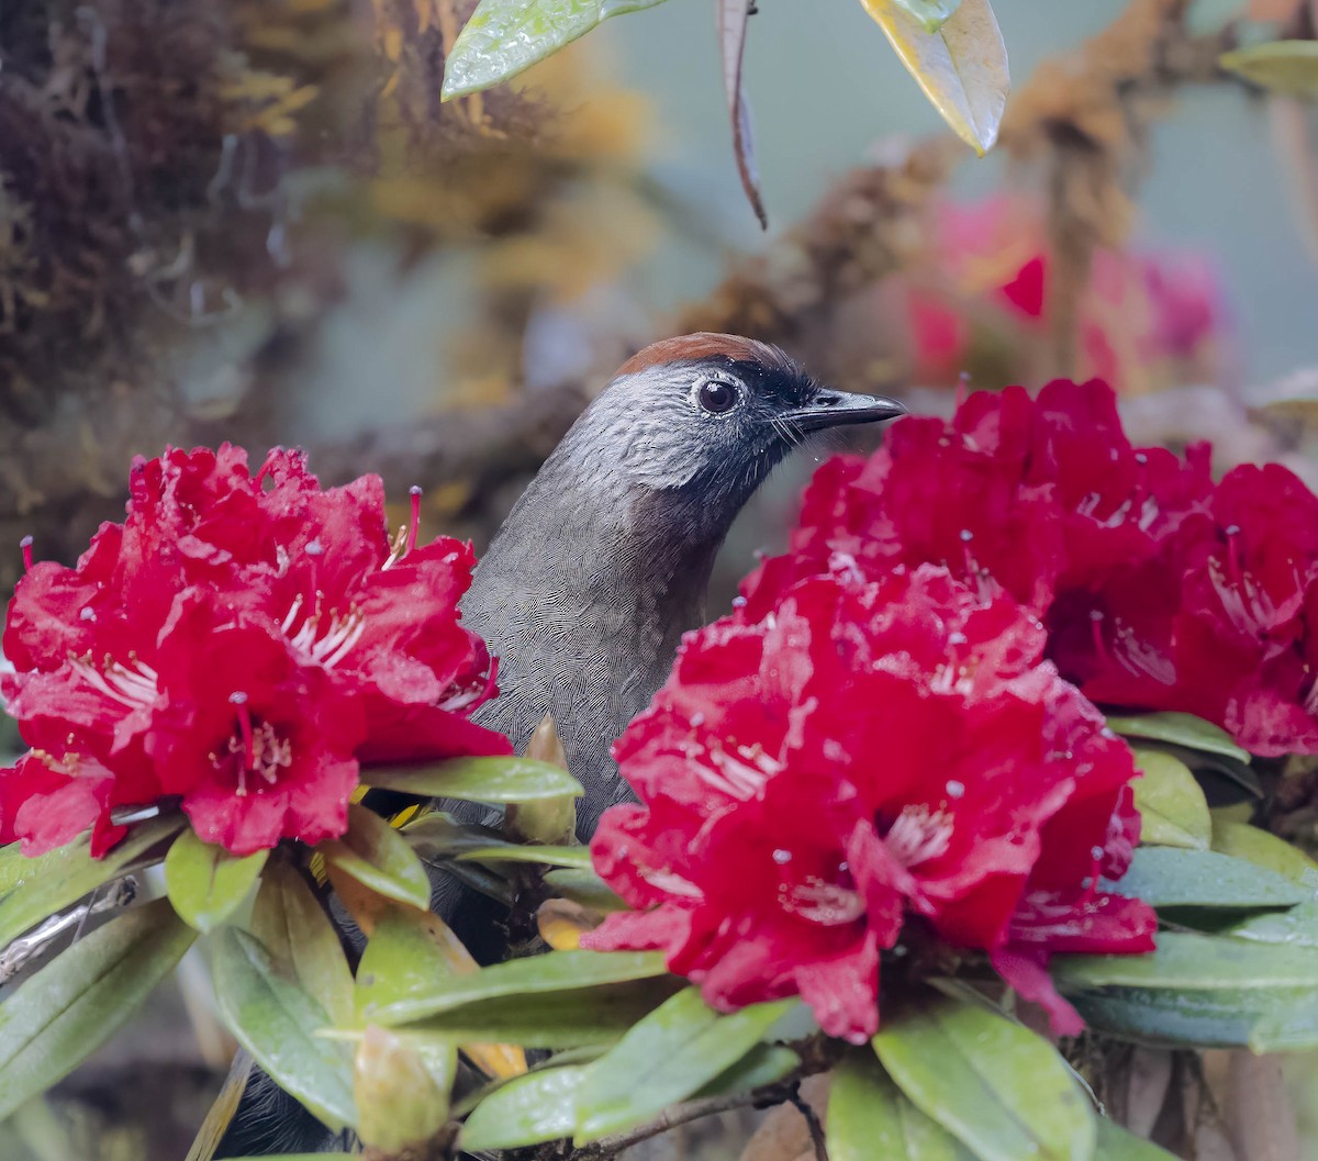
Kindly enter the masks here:
M 837 559 L 1010 593 L 1097 702 L 1194 713 L 1255 754 L 1318 752 L 1318 498 L 1277 465 L 1215 484 L 1206 445 L 1132 447 L 1098 381 L 975 394 L 829 461 L 751 606 Z

